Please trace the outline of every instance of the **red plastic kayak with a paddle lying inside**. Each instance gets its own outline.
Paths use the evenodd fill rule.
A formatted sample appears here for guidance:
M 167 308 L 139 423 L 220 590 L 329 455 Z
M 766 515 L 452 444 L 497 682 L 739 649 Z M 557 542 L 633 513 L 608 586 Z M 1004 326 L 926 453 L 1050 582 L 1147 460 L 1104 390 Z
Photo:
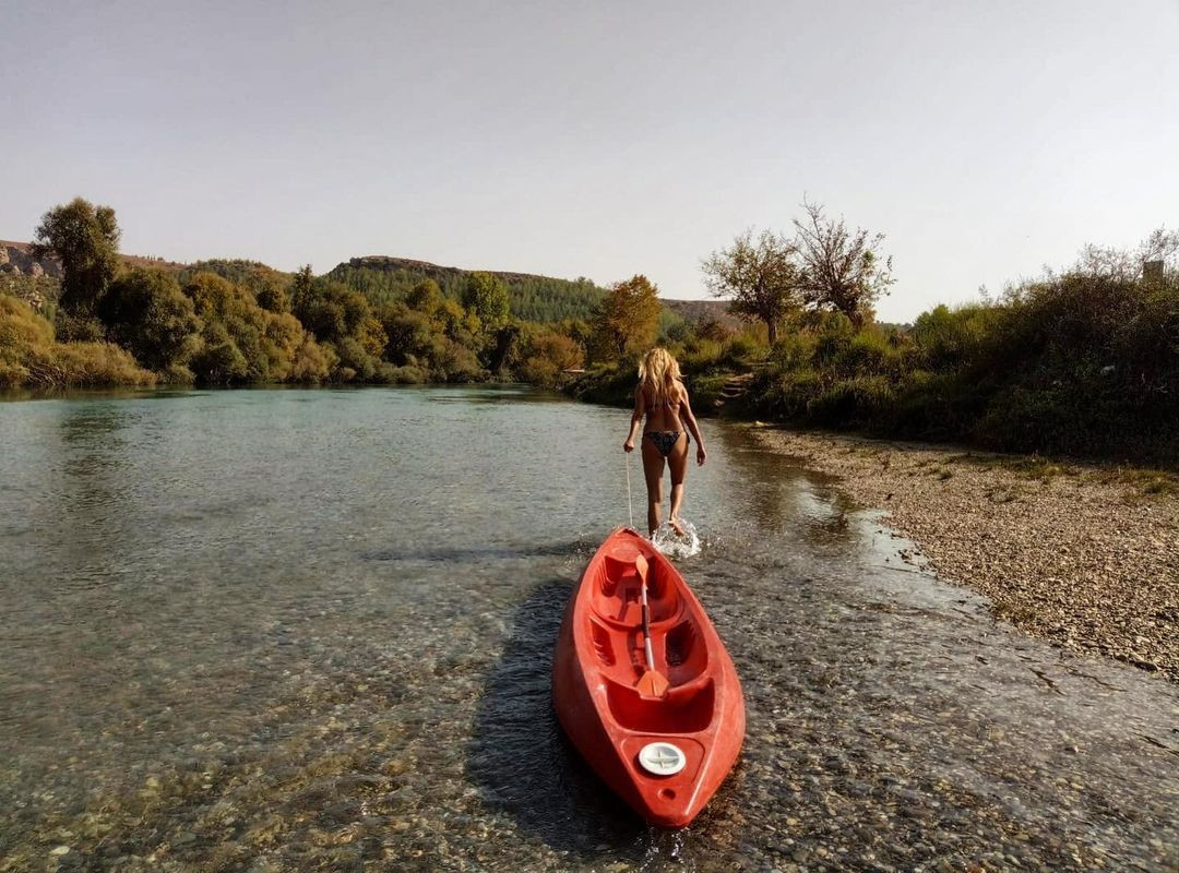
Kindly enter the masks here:
M 553 702 L 598 775 L 660 827 L 696 818 L 745 738 L 740 681 L 712 622 L 672 563 L 628 528 L 606 537 L 573 593 Z

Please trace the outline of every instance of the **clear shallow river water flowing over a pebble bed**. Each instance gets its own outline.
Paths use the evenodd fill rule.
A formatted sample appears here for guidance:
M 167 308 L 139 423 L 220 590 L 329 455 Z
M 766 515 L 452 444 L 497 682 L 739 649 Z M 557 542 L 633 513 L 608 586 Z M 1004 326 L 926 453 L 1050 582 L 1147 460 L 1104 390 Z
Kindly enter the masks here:
M 637 822 L 548 684 L 625 428 L 505 389 L 0 404 L 0 871 L 1179 866 L 1174 686 L 996 626 L 714 423 L 680 566 L 749 735 L 690 829 Z

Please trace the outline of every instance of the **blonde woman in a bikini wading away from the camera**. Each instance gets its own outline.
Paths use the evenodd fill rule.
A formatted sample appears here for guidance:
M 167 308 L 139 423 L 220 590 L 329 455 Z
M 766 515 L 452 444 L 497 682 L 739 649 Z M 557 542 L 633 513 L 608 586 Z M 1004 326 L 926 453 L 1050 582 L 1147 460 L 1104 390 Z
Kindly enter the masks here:
M 623 443 L 624 451 L 634 451 L 634 435 L 646 416 L 643 429 L 643 471 L 647 480 L 647 528 L 654 536 L 663 509 L 664 461 L 671 470 L 671 516 L 667 522 L 679 536 L 684 525 L 679 508 L 684 503 L 684 475 L 687 472 L 687 432 L 696 438 L 696 463 L 704 464 L 707 452 L 700 428 L 687 402 L 687 389 L 679 376 L 679 364 L 666 349 L 654 348 L 639 364 L 639 384 L 634 389 L 634 414 L 631 431 Z

